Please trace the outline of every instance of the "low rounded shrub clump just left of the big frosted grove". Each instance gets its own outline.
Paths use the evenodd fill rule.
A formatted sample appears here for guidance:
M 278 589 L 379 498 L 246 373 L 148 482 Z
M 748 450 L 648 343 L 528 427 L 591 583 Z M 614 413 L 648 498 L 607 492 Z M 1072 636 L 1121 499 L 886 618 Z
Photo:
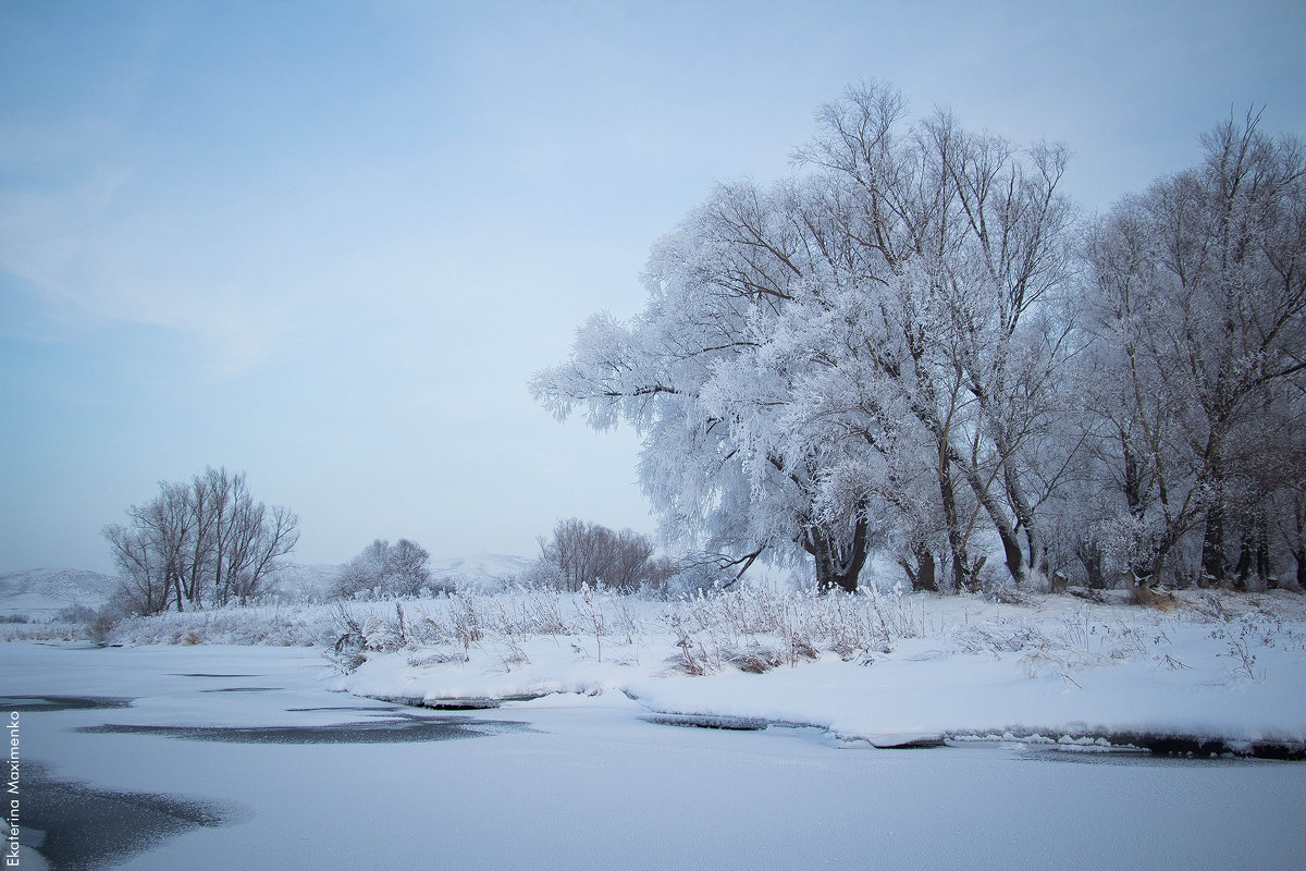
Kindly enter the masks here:
M 539 550 L 529 580 L 564 590 L 599 584 L 622 592 L 661 589 L 677 573 L 670 560 L 654 558 L 649 537 L 576 517 L 559 521 L 552 535 L 539 542 Z

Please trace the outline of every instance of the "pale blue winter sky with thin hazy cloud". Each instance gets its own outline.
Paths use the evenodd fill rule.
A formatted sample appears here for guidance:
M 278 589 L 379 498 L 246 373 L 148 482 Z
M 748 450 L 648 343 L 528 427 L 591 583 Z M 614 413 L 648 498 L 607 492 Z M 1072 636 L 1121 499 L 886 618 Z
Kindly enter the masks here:
M 0 0 L 0 572 L 112 571 L 210 465 L 302 563 L 654 533 L 636 435 L 528 380 L 871 78 L 1067 144 L 1092 214 L 1230 112 L 1306 136 L 1306 4 Z

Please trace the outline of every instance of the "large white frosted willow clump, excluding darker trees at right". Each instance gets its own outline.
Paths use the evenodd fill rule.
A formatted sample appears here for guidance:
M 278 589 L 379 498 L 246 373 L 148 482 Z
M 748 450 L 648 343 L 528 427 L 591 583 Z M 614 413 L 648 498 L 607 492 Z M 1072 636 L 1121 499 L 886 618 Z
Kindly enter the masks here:
M 654 248 L 644 311 L 593 317 L 533 392 L 632 424 L 666 528 L 729 562 L 806 552 L 852 590 L 892 539 L 917 585 L 943 560 L 974 586 L 993 529 L 1024 581 L 1066 465 L 1064 151 L 908 123 L 876 84 L 819 121 L 801 175 L 718 187 Z

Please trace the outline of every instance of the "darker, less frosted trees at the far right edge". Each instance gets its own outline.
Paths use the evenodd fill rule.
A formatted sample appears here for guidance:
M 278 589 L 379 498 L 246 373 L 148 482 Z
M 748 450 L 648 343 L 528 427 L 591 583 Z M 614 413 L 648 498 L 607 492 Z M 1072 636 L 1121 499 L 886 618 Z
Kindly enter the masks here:
M 1264 580 L 1267 512 L 1306 477 L 1306 151 L 1251 115 L 1203 144 L 1089 239 L 1102 520 L 1141 601 L 1171 573 Z

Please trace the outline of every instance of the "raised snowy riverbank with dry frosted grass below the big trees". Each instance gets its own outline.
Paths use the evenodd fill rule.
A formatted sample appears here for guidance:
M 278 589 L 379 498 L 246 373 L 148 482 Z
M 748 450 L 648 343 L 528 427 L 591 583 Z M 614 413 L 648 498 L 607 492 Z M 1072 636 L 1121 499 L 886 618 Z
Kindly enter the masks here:
M 1306 747 L 1306 607 L 1290 593 L 1190 594 L 1166 612 L 1071 597 L 526 593 L 358 627 L 359 665 L 334 686 L 414 704 L 616 691 L 650 713 L 876 746 L 1148 734 Z

